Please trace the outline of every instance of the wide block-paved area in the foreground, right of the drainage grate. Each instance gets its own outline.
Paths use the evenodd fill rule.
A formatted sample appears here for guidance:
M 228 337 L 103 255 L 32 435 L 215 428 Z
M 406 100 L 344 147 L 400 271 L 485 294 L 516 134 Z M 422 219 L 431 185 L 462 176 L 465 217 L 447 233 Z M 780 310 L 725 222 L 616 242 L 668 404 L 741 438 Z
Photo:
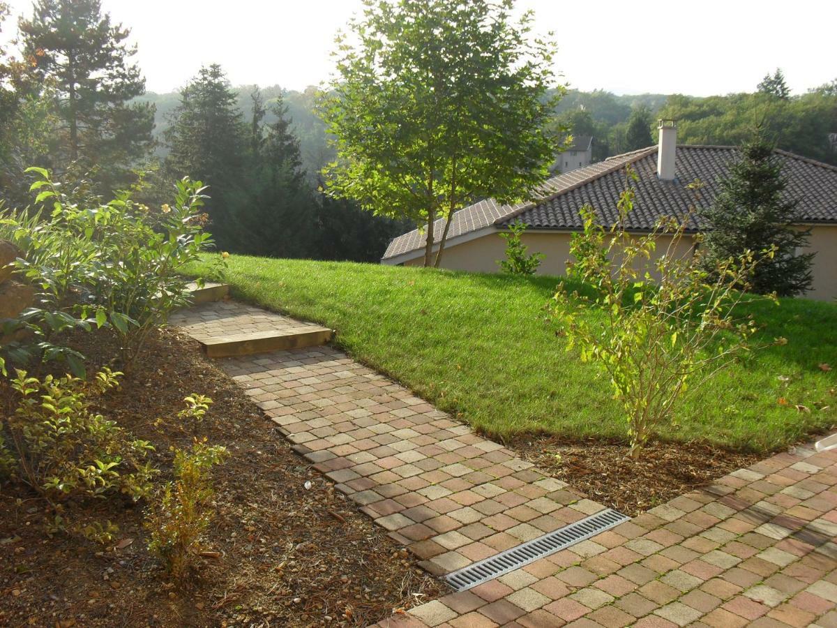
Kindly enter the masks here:
M 379 628 L 837 626 L 837 451 L 799 448 Z

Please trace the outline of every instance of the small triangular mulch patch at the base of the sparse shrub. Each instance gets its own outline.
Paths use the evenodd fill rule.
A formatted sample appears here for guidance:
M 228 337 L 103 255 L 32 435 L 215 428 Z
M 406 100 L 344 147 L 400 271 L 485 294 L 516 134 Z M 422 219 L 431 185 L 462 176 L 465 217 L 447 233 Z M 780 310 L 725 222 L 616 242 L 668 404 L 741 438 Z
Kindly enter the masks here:
M 638 460 L 628 445 L 522 436 L 511 449 L 590 499 L 634 517 L 763 458 L 701 443 L 651 442 Z

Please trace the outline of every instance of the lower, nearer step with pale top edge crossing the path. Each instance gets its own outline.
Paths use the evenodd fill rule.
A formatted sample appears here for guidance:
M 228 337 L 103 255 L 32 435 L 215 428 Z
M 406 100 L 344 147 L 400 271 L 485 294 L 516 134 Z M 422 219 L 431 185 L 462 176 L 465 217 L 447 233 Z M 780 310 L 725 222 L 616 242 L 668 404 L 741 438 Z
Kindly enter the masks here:
M 239 333 L 230 336 L 218 336 L 198 341 L 201 349 L 209 358 L 230 358 L 253 353 L 284 351 L 302 347 L 316 347 L 326 344 L 334 332 L 328 327 L 318 325 L 300 325 L 290 329 L 269 332 Z

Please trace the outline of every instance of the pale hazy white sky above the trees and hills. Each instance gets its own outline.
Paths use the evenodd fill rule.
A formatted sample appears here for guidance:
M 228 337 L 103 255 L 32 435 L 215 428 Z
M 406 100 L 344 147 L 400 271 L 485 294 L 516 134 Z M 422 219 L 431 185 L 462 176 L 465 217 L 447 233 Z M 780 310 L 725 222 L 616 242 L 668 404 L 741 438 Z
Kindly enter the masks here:
M 152 91 L 176 90 L 209 63 L 222 64 L 235 85 L 318 85 L 331 71 L 334 33 L 361 7 L 360 0 L 102 4 L 132 29 Z M 31 0 L 11 5 L 29 13 Z M 582 90 L 752 91 L 776 67 L 794 93 L 837 78 L 834 0 L 518 0 L 518 7 L 535 10 L 539 31 L 555 31 L 556 68 Z

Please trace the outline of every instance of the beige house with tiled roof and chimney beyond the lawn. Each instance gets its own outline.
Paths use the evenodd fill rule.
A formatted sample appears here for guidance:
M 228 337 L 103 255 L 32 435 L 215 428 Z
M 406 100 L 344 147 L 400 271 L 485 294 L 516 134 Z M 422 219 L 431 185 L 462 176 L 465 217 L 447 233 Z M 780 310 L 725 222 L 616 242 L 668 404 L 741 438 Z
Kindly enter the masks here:
M 564 172 L 552 177 L 537 191 L 530 203 L 502 205 L 492 198 L 460 209 L 450 224 L 441 265 L 444 268 L 496 272 L 497 260 L 505 257 L 505 241 L 499 234 L 508 225 L 521 220 L 527 225 L 522 239 L 531 251 L 546 255 L 539 272 L 563 275 L 569 258 L 570 237 L 582 228 L 578 210 L 585 203 L 596 208 L 603 220 L 612 224 L 616 202 L 626 187 L 625 167 L 630 166 L 637 179 L 634 211 L 628 227 L 636 233 L 648 233 L 663 215 L 684 214 L 694 206 L 698 212 L 708 208 L 718 190 L 718 180 L 727 175 L 739 157 L 736 147 L 677 145 L 676 126 L 660 124 L 658 146 L 609 157 L 603 162 Z M 777 150 L 788 179 L 787 193 L 798 198 L 799 225 L 811 229 L 810 250 L 814 257 L 814 283 L 806 295 L 830 300 L 837 297 L 837 167 Z M 697 193 L 687 185 L 700 179 L 704 187 Z M 442 233 L 444 220 L 435 231 Z M 701 229 L 696 216 L 689 227 L 695 234 Z M 684 239 L 688 254 L 693 243 Z M 422 265 L 424 232 L 413 229 L 389 244 L 382 263 Z M 665 250 L 665 243 L 658 245 Z

